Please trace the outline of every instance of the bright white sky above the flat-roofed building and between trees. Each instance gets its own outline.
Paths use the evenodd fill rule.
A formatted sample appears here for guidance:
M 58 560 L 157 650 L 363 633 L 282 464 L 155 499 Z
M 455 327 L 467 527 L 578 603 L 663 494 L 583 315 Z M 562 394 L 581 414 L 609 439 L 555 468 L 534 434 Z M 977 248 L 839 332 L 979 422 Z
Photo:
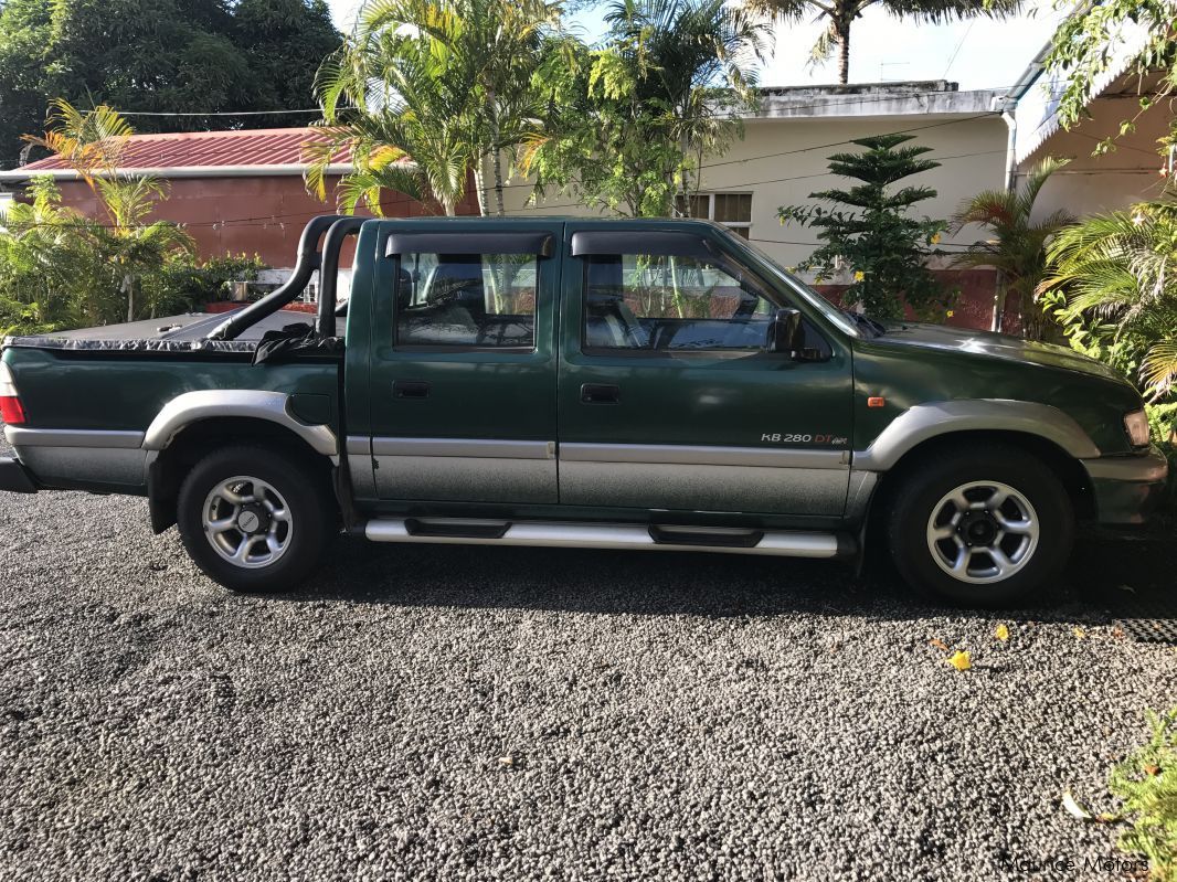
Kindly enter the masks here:
M 351 29 L 363 0 L 328 0 L 335 25 Z M 1038 0 L 1026 15 L 1006 21 L 978 19 L 955 25 L 916 25 L 869 8 L 851 31 L 850 81 L 950 80 L 962 89 L 1013 85 L 1060 20 L 1050 0 Z M 583 35 L 603 28 L 592 11 L 574 16 Z M 812 68 L 809 53 L 820 25 L 777 28 L 776 47 L 760 71 L 763 86 L 802 86 L 837 81 L 837 61 Z

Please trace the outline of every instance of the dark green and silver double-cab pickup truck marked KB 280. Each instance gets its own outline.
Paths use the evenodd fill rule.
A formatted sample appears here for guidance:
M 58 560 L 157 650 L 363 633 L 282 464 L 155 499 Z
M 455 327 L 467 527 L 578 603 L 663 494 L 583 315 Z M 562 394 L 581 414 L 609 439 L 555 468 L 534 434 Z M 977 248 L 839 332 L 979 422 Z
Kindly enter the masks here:
M 315 270 L 319 313 L 291 322 Z M 0 406 L 0 489 L 146 496 L 238 590 L 297 583 L 347 530 L 877 543 L 919 589 L 1002 604 L 1058 574 L 1077 522 L 1141 523 L 1166 477 L 1097 362 L 842 312 L 701 221 L 319 218 L 290 282 L 227 319 L 6 340 Z

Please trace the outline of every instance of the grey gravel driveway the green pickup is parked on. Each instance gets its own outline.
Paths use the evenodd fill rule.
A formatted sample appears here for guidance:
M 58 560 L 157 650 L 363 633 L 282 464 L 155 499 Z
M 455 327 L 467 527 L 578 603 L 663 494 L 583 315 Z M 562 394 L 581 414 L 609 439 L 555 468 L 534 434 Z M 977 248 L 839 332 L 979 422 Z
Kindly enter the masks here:
M 238 597 L 141 501 L 0 495 L 0 878 L 1118 878 L 1059 796 L 1177 652 L 1048 602 L 358 540 Z

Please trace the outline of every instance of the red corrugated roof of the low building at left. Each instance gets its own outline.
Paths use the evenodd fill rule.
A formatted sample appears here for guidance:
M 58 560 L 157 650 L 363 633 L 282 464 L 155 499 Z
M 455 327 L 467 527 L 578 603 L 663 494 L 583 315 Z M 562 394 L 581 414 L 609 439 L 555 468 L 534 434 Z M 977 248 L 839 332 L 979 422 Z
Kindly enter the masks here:
M 169 132 L 132 135 L 122 152 L 120 169 L 210 168 L 226 166 L 305 166 L 304 147 L 325 141 L 315 128 L 255 128 L 237 132 Z M 332 162 L 347 162 L 347 149 Z M 20 172 L 53 172 L 67 166 L 49 156 L 24 166 Z

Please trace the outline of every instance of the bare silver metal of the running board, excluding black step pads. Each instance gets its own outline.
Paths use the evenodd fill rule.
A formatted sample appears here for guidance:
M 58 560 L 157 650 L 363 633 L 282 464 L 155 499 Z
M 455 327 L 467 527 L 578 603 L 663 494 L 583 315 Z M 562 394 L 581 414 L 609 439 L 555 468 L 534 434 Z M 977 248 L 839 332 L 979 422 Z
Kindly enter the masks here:
M 454 522 L 457 523 L 457 521 Z M 443 536 L 414 533 L 403 519 L 368 521 L 364 535 L 373 542 L 427 542 L 435 544 L 533 546 L 537 548 L 610 548 L 646 552 L 723 552 L 780 557 L 836 557 L 838 536 L 832 533 L 765 532 L 751 547 L 657 542 L 650 528 L 632 523 L 511 523 L 501 536 Z M 696 534 L 698 535 L 698 534 Z

